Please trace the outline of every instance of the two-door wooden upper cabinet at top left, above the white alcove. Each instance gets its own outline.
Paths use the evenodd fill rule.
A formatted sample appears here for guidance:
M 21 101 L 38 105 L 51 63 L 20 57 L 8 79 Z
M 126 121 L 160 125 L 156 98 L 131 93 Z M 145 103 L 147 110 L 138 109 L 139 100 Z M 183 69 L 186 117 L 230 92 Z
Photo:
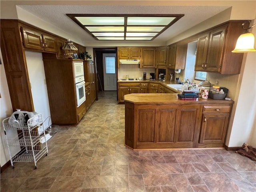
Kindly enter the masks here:
M 24 48 L 30 50 L 57 52 L 56 38 L 22 27 Z

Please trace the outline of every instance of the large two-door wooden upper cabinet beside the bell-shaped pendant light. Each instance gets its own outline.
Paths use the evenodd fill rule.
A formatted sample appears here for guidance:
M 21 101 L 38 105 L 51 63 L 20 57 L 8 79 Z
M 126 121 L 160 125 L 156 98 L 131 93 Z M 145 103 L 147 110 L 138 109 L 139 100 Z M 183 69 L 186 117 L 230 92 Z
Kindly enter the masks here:
M 243 33 L 241 21 L 230 21 L 198 36 L 195 70 L 239 74 L 243 53 L 232 53 Z

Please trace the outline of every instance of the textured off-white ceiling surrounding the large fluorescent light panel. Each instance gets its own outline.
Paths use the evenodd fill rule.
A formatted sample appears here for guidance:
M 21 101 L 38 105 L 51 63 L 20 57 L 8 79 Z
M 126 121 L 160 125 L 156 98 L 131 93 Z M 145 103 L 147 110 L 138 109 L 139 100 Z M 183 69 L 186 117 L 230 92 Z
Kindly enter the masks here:
M 185 14 L 154 41 L 167 41 L 226 10 L 228 6 L 86 6 L 86 5 L 18 5 L 54 26 L 78 36 L 81 40 L 96 41 L 66 14 Z

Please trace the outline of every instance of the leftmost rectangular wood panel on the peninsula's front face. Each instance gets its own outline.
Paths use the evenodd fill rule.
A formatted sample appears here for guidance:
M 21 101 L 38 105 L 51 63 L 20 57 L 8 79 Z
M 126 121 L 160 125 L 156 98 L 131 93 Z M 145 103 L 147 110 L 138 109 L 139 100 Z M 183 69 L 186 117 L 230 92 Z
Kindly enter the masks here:
M 138 110 L 138 141 L 137 142 L 154 142 L 155 128 L 155 109 Z

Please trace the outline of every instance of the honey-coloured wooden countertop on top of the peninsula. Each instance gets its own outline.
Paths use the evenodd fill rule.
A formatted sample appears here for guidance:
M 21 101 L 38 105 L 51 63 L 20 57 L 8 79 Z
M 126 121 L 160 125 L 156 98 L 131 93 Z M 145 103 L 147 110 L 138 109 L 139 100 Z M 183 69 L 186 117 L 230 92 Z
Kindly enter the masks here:
M 124 102 L 131 102 L 134 104 L 233 104 L 234 101 L 216 100 L 216 99 L 202 99 L 194 101 L 179 100 L 177 93 L 136 93 L 127 94 L 124 96 Z M 172 102 L 172 103 L 170 103 Z

